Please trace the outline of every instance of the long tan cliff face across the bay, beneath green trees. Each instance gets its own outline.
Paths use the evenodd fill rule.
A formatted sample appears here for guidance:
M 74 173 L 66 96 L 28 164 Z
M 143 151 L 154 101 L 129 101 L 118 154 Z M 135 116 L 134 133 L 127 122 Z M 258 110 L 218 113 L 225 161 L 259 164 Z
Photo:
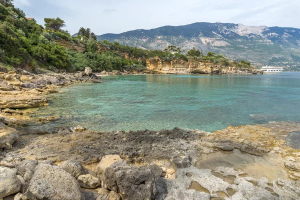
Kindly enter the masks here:
M 155 73 L 187 74 L 187 73 L 212 73 L 212 74 L 262 74 L 255 67 L 239 68 L 230 63 L 230 66 L 213 64 L 210 61 L 165 61 L 159 58 L 147 59 L 147 70 Z

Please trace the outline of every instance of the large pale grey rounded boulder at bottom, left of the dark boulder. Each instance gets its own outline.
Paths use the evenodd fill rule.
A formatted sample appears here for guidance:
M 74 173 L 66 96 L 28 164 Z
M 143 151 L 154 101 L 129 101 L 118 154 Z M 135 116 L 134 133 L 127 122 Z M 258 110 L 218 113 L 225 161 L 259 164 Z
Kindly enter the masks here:
M 29 200 L 84 200 L 77 180 L 57 166 L 39 164 L 26 192 Z

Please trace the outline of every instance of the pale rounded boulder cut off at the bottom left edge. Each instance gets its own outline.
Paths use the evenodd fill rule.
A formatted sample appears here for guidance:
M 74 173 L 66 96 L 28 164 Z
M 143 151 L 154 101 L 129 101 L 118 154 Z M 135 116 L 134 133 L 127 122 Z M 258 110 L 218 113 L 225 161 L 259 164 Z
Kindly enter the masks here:
M 16 193 L 20 190 L 22 182 L 14 170 L 0 167 L 0 198 Z

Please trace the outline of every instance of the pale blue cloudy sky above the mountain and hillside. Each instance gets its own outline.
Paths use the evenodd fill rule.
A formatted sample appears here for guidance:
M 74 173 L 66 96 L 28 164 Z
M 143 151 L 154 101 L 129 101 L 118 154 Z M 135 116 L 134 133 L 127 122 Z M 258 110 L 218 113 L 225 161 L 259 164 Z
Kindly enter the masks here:
M 300 0 L 14 0 L 28 17 L 60 17 L 97 35 L 194 22 L 300 28 Z

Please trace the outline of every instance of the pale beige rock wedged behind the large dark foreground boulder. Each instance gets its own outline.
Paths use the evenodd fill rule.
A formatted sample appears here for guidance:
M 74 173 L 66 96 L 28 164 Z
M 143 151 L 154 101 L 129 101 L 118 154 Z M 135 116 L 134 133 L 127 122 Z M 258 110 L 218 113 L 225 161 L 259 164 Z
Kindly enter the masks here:
M 105 155 L 102 157 L 100 162 L 96 166 L 96 175 L 101 181 L 101 185 L 104 188 L 107 188 L 107 185 L 105 185 L 105 177 L 104 177 L 104 171 L 107 167 L 109 167 L 113 162 L 122 160 L 120 156 L 118 155 Z

